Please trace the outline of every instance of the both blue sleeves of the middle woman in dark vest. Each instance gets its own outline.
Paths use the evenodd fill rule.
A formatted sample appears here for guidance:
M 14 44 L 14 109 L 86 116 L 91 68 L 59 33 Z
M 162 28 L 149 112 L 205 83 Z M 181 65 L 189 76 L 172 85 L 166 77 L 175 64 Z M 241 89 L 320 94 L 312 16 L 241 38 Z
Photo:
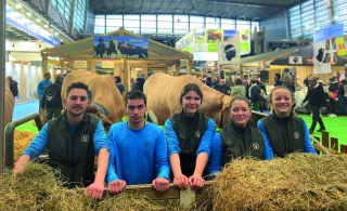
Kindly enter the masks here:
M 207 156 L 209 156 L 213 137 L 215 133 L 216 133 L 216 122 L 213 119 L 209 119 L 207 123 L 207 130 L 204 132 L 201 143 L 198 145 L 198 148 L 196 150 L 196 156 L 198 156 L 198 154 L 201 153 L 205 153 L 207 154 Z M 180 154 L 181 153 L 180 144 L 170 119 L 167 119 L 165 121 L 165 137 L 168 144 L 169 157 L 171 157 L 172 154 Z

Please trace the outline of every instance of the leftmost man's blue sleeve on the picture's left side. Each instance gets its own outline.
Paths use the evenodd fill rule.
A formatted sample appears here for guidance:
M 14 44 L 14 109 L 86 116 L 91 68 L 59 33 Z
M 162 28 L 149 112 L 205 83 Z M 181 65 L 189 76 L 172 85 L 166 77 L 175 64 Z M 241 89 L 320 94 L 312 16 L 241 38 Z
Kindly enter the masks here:
M 23 151 L 22 155 L 28 155 L 30 159 L 37 158 L 43 151 L 48 143 L 48 123 L 43 126 L 40 132 L 36 135 L 29 146 Z

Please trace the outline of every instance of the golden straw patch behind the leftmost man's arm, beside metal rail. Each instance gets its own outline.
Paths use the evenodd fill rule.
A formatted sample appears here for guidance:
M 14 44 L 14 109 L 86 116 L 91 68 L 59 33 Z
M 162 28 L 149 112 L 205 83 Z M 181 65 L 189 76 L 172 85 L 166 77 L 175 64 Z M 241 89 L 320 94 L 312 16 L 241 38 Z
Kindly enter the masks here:
M 34 140 L 36 134 L 26 132 L 26 131 L 14 131 L 14 139 L 13 139 L 13 146 L 14 146 L 14 154 L 13 159 L 16 162 L 24 149 L 30 144 L 30 142 Z

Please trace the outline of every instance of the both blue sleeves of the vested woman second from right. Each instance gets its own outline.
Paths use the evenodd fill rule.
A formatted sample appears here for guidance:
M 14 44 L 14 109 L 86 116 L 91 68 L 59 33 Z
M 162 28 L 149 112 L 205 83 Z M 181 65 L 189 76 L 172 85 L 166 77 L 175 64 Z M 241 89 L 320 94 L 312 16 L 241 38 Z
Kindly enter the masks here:
M 264 134 L 262 134 L 264 136 Z M 265 140 L 265 137 L 264 137 Z M 222 145 L 220 134 L 217 132 L 213 140 L 211 153 L 208 162 L 208 174 L 216 174 L 221 171 L 221 160 L 222 160 Z M 271 160 L 273 158 L 273 153 L 269 140 L 264 143 L 264 159 Z

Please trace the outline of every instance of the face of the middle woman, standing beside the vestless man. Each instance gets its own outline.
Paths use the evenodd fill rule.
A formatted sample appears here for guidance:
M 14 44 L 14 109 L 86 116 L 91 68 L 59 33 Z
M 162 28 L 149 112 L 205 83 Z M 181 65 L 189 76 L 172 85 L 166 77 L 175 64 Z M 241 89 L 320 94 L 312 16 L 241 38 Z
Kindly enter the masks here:
M 182 98 L 182 108 L 185 116 L 194 116 L 202 104 L 202 98 L 193 90 L 189 91 Z

